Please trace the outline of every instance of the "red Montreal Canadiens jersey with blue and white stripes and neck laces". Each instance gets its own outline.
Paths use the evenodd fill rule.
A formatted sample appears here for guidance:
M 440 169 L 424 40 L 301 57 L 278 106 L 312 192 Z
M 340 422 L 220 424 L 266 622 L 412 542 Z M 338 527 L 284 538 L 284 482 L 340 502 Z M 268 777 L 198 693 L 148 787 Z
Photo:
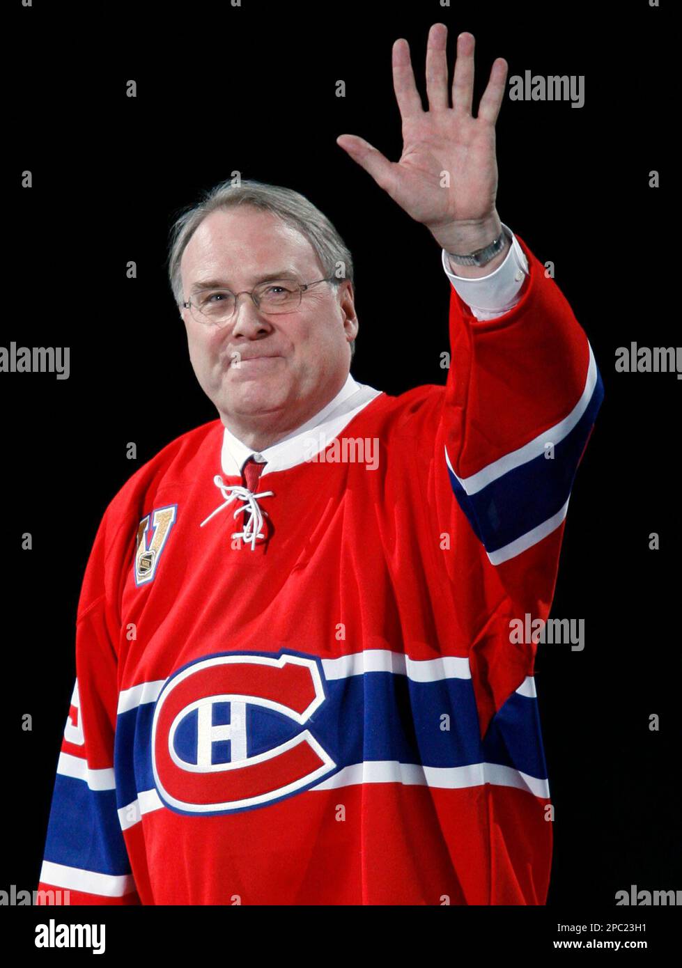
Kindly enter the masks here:
M 450 287 L 445 386 L 358 384 L 333 439 L 294 443 L 253 490 L 226 474 L 214 420 L 111 500 L 41 890 L 545 902 L 538 647 L 510 629 L 548 617 L 603 384 L 518 241 L 529 278 L 509 312 L 480 321 Z

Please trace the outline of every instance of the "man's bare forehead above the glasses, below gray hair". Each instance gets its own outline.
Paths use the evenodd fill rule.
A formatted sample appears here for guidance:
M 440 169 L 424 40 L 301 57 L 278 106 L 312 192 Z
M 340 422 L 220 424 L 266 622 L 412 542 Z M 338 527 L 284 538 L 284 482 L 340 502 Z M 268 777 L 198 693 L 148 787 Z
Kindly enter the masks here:
M 180 272 L 186 285 L 209 276 L 251 285 L 284 265 L 310 271 L 317 266 L 315 250 L 272 212 L 239 206 L 211 212 L 203 220 L 185 247 Z

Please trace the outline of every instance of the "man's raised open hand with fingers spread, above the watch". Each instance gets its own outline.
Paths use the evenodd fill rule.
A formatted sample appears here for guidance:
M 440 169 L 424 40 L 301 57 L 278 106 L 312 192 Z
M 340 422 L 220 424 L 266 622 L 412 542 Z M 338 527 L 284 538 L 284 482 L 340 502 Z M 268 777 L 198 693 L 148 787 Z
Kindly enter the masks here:
M 447 39 L 447 26 L 433 24 L 426 45 L 427 111 L 421 106 L 407 41 L 397 40 L 393 45 L 393 89 L 402 118 L 400 161 L 389 162 L 381 151 L 356 135 L 336 139 L 446 249 L 468 240 L 474 244 L 492 226 L 499 226 L 495 210 L 495 122 L 508 71 L 507 62 L 498 57 L 480 99 L 478 116 L 474 117 L 475 39 L 472 34 L 460 34 L 450 107 Z M 444 172 L 448 172 L 448 177 Z

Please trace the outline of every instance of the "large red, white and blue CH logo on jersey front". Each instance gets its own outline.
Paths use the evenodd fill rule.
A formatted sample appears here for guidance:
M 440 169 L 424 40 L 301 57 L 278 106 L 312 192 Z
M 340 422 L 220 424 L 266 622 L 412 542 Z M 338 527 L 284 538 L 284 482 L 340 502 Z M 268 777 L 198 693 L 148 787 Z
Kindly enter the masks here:
M 180 813 L 228 813 L 314 785 L 336 769 L 306 728 L 324 702 L 313 658 L 230 652 L 190 663 L 154 710 L 159 797 Z

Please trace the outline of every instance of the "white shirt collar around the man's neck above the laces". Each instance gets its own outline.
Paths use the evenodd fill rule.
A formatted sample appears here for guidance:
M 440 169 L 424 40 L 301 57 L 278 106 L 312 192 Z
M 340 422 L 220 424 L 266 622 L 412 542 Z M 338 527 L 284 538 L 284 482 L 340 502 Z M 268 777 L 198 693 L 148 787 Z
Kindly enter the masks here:
M 253 457 L 259 464 L 266 463 L 263 474 L 271 470 L 285 470 L 309 460 L 319 453 L 362 408 L 381 394 L 372 386 L 358 383 L 349 373 L 336 396 L 321 410 L 296 427 L 287 437 L 265 447 L 253 450 L 226 427 L 223 434 L 221 467 L 224 474 L 241 474 L 246 461 Z

